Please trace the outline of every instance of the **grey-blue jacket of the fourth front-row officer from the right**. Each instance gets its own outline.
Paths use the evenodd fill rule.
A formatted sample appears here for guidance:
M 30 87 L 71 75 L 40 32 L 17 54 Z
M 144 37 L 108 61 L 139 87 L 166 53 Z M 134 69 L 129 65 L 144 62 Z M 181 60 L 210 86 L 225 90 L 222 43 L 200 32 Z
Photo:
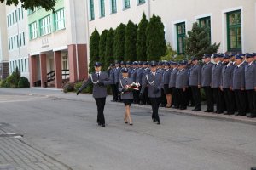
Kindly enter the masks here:
M 221 62 L 212 66 L 212 88 L 219 88 L 221 85 L 221 74 L 224 65 Z

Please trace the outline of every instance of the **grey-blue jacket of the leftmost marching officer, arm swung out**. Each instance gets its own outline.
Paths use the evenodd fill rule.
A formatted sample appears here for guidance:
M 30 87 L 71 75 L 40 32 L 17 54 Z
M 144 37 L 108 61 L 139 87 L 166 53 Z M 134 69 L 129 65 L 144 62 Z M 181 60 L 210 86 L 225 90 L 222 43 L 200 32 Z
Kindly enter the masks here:
M 104 86 L 99 86 L 96 82 L 101 81 L 104 83 Z M 93 90 L 92 90 L 92 96 L 94 98 L 106 98 L 107 97 L 107 85 L 111 84 L 111 80 L 108 77 L 107 72 L 100 73 L 100 77 L 97 77 L 96 72 L 90 74 L 90 77 L 86 82 L 83 83 L 81 88 L 79 88 L 79 91 L 82 91 L 84 88 L 86 88 L 90 83 L 93 83 Z

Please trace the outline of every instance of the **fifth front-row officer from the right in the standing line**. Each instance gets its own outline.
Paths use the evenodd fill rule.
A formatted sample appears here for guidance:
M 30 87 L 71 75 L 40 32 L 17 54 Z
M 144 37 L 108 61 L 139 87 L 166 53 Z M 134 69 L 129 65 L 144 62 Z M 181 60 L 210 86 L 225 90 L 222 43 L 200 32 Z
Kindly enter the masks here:
M 207 110 L 205 112 L 213 112 L 213 93 L 212 93 L 212 62 L 211 55 L 204 54 L 204 65 L 201 69 L 201 87 L 204 89 L 207 98 Z

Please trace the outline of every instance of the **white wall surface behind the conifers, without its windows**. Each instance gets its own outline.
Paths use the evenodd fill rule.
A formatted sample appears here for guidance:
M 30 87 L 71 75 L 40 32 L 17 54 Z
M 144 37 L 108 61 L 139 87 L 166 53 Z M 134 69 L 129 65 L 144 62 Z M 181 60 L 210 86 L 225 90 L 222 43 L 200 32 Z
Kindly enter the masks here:
M 88 2 L 90 2 L 88 0 Z M 101 32 L 117 27 L 121 22 L 132 20 L 138 23 L 143 12 L 148 16 L 159 15 L 165 25 L 166 42 L 177 50 L 176 24 L 186 22 L 186 32 L 199 18 L 211 16 L 212 42 L 221 42 L 219 52 L 227 51 L 226 13 L 241 9 L 242 52 L 256 51 L 256 1 L 255 0 L 146 0 L 137 6 L 131 0 L 131 8 L 123 10 L 123 1 L 117 0 L 117 13 L 110 14 L 110 1 L 105 0 L 105 17 L 100 18 L 99 0 L 94 1 L 95 20 L 89 22 L 89 33 L 95 28 Z M 90 7 L 88 7 L 90 13 Z

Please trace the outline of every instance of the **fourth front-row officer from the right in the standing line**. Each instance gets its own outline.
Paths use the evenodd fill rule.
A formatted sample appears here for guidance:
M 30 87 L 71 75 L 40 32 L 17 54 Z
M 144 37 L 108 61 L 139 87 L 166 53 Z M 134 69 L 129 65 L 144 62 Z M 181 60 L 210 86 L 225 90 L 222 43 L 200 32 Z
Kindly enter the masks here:
M 222 68 L 224 67 L 221 62 L 221 58 L 222 56 L 219 54 L 213 54 L 215 64 L 212 66 L 212 88 L 213 98 L 217 106 L 217 111 L 215 111 L 215 113 L 217 114 L 224 112 L 224 96 L 220 89 Z

